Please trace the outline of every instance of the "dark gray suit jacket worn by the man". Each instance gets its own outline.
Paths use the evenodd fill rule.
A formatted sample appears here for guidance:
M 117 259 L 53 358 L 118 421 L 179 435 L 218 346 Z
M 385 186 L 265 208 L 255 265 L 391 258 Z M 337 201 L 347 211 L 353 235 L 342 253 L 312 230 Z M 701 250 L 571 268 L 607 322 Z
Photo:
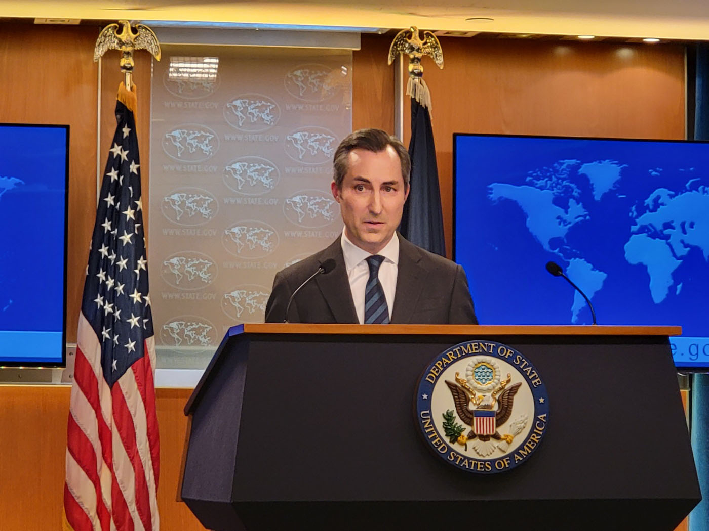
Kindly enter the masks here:
M 465 272 L 460 265 L 399 239 L 392 324 L 477 324 Z M 327 249 L 276 273 L 266 304 L 266 322 L 282 323 L 291 294 L 328 258 L 335 268 L 318 275 L 296 295 L 291 323 L 358 323 L 340 238 Z

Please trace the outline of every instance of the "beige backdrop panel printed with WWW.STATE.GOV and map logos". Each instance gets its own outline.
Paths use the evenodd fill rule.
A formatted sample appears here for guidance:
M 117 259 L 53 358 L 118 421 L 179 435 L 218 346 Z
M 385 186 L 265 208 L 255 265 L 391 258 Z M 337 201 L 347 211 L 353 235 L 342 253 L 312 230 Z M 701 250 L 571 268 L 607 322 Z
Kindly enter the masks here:
M 342 229 L 329 191 L 352 54 L 166 48 L 152 90 L 151 295 L 159 366 L 204 366 L 262 322 L 274 274 Z

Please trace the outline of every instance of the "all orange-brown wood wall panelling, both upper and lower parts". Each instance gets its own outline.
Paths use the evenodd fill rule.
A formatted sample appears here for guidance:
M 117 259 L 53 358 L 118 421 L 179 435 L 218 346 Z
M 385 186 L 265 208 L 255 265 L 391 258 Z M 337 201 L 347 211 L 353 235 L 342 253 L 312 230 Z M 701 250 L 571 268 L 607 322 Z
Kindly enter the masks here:
M 99 28 L 0 24 L 0 121 L 68 123 L 69 280 L 67 338 L 75 341 L 86 253 L 96 209 L 98 69 L 92 60 Z M 353 57 L 353 124 L 393 131 L 391 38 L 364 35 Z M 683 49 L 676 45 L 603 42 L 442 40 L 445 69 L 428 59 L 425 79 L 450 252 L 452 133 L 581 135 L 679 139 L 684 135 Z M 113 52 L 112 52 L 113 53 Z M 101 166 L 111 141 L 113 98 L 121 77 L 116 57 L 104 62 Z M 138 60 L 144 204 L 150 130 L 150 61 Z M 408 108 L 408 105 L 406 106 Z M 406 139 L 405 139 L 406 142 Z M 147 220 L 146 220 L 147 223 Z M 201 529 L 174 501 L 189 390 L 159 389 L 163 529 Z M 0 527 L 57 529 L 62 510 L 67 387 L 0 387 Z M 26 486 L 30 485 L 30 489 Z

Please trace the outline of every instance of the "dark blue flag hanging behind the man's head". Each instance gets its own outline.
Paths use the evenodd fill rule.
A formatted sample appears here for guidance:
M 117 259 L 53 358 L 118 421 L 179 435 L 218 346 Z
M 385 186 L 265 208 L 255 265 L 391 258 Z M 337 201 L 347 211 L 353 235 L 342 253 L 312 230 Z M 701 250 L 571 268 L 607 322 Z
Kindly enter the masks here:
M 436 148 L 428 109 L 411 98 L 411 192 L 399 230 L 413 244 L 445 256 L 443 213 L 438 185 Z

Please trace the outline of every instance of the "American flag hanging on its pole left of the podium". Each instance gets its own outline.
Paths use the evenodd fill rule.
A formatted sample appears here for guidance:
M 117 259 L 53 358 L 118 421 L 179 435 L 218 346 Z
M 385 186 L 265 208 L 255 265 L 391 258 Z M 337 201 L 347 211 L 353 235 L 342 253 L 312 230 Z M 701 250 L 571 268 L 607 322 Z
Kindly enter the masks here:
M 123 86 L 121 94 L 135 97 Z M 121 101 L 116 103 L 116 121 L 96 210 L 74 362 L 64 489 L 64 524 L 73 531 L 160 527 L 155 338 L 138 137 L 133 112 Z

